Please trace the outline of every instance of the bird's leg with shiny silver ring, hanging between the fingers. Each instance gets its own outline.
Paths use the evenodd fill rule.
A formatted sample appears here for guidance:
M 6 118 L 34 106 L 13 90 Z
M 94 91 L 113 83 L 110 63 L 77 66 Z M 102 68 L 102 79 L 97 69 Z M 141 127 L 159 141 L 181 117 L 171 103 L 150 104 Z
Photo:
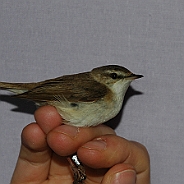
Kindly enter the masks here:
M 67 160 L 73 171 L 73 184 L 84 184 L 84 180 L 86 179 L 86 173 L 84 166 L 81 165 L 77 155 L 67 157 Z

